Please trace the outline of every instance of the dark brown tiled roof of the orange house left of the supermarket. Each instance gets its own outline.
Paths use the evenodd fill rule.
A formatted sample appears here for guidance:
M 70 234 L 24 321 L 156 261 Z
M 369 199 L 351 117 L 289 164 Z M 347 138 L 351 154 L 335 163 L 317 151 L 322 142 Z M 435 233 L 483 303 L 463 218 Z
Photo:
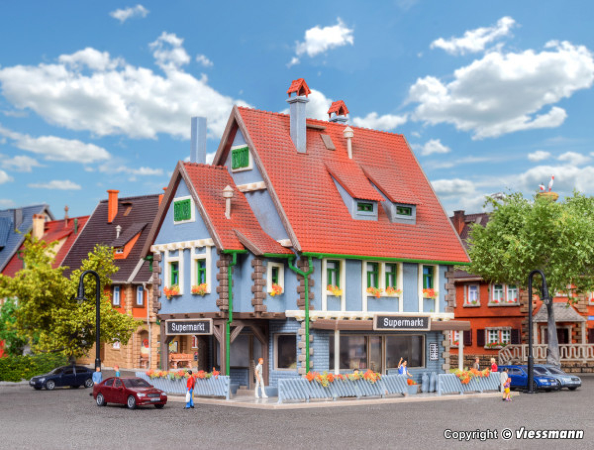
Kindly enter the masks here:
M 122 207 L 122 203 L 131 203 L 131 210 L 127 215 L 124 213 L 128 209 Z M 111 223 L 108 223 L 108 201 L 102 200 L 97 205 L 96 209 L 91 215 L 87 225 L 83 231 L 80 232 L 77 241 L 74 243 L 64 261 L 62 266 L 68 266 L 65 270 L 65 275 L 70 275 L 73 269 L 80 268 L 81 262 L 87 258 L 89 252 L 97 244 L 106 246 L 113 246 L 114 243 L 119 243 L 128 235 L 132 237 L 138 233 L 139 228 L 142 230 L 140 237 L 135 242 L 134 247 L 128 253 L 128 256 L 122 259 L 116 259 L 113 263 L 118 266 L 118 272 L 112 275 L 114 283 L 127 283 L 130 276 L 134 273 L 136 266 L 140 260 L 140 251 L 144 245 L 144 241 L 149 234 L 149 226 L 146 225 L 153 222 L 159 208 L 159 194 L 140 196 L 140 197 L 126 197 L 118 199 L 118 213 Z M 122 227 L 120 238 L 116 240 L 115 227 L 119 225 Z M 133 233 L 132 233 L 133 232 Z M 132 283 L 140 284 L 148 282 L 151 277 L 149 270 L 149 263 L 144 261 L 140 270 L 135 274 L 131 280 Z

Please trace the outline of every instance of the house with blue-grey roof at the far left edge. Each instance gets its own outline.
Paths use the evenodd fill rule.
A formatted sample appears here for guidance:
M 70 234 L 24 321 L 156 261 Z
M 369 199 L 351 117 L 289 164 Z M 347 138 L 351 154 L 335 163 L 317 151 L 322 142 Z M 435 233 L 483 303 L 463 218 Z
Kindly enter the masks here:
M 33 229 L 34 215 L 39 215 L 43 221 L 53 219 L 47 204 L 0 210 L 0 273 L 2 275 L 14 275 L 16 270 L 13 272 L 13 266 L 22 268 L 23 262 L 19 250 L 25 235 Z M 0 298 L 0 305 L 4 300 Z M 0 357 L 4 355 L 3 347 L 4 342 L 0 341 Z

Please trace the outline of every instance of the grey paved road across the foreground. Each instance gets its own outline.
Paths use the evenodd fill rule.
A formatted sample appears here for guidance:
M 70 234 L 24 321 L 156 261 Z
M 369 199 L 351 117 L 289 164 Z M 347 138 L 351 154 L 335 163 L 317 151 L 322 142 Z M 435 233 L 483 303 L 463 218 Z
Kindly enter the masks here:
M 171 402 L 97 407 L 89 389 L 0 387 L 0 449 L 592 448 L 594 377 L 575 392 L 500 399 L 261 411 Z M 583 440 L 458 442 L 444 430 L 581 429 Z

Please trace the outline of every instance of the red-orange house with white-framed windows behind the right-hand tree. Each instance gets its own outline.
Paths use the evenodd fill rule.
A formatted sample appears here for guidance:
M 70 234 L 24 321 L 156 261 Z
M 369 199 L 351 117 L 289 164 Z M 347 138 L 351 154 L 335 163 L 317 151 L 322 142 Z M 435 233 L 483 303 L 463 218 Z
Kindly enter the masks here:
M 473 224 L 486 226 L 488 213 L 466 214 L 454 211 L 450 218 L 466 246 Z M 451 358 L 457 360 L 460 343 L 465 365 L 471 366 L 476 356 L 486 364 L 497 357 L 503 347 L 527 343 L 528 295 L 516 285 L 488 283 L 481 276 L 465 270 L 455 270 L 456 319 L 469 320 L 472 329 L 460 336 L 451 335 Z M 554 299 L 555 321 L 559 344 L 594 344 L 594 296 L 581 295 L 577 304 L 567 306 L 567 295 L 557 293 Z M 540 300 L 533 303 L 533 333 L 535 344 L 546 344 L 547 313 Z M 460 339 L 462 338 L 462 339 Z M 562 359 L 563 359 L 562 352 Z M 594 357 L 594 354 L 592 355 Z

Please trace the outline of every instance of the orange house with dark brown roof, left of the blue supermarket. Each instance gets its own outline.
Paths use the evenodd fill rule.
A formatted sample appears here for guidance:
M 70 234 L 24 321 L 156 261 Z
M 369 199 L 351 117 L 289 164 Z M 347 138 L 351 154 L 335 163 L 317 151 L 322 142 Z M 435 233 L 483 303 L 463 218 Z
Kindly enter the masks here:
M 109 292 L 114 309 L 143 320 L 144 325 L 132 333 L 127 345 L 120 342 L 104 344 L 101 349 L 102 363 L 132 368 L 147 366 L 149 361 L 153 361 L 156 367 L 159 326 L 148 305 L 150 262 L 141 259 L 140 250 L 149 234 L 162 195 L 118 199 L 118 193 L 108 190 L 108 200 L 102 200 L 97 205 L 62 265 L 68 266 L 64 273 L 69 275 L 72 270 L 80 268 L 95 246 L 113 247 L 113 262 L 119 270 L 112 275 L 112 284 L 104 289 Z M 93 351 L 91 354 L 94 354 Z M 93 358 L 89 358 L 89 362 L 92 361 Z

